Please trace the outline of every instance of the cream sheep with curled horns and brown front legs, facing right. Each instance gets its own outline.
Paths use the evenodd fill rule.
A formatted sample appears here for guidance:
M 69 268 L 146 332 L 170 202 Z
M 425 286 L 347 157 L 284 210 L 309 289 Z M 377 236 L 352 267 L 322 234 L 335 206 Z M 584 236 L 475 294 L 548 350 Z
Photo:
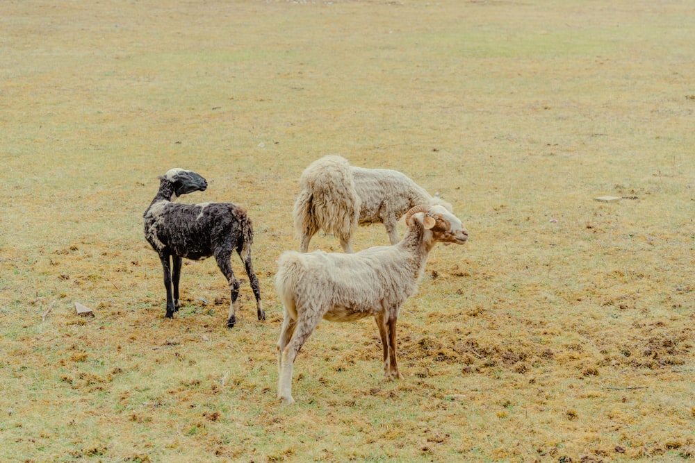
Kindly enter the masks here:
M 358 253 L 285 251 L 275 276 L 284 305 L 277 342 L 278 398 L 293 403 L 297 353 L 322 319 L 354 321 L 373 315 L 384 347 L 384 377 L 400 379 L 395 326 L 401 304 L 416 292 L 427 255 L 437 242 L 464 244 L 468 232 L 441 205 L 417 205 L 404 216 L 407 232 L 392 246 Z

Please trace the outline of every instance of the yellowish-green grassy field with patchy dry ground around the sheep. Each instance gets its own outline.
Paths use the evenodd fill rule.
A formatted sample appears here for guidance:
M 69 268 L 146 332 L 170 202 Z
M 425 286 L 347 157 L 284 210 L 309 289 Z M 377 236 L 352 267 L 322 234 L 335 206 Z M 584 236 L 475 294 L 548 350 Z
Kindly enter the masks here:
M 0 3 L 0 461 L 692 459 L 693 24 L 676 0 Z M 283 406 L 272 277 L 327 153 L 439 192 L 471 239 L 402 308 L 403 380 L 373 321 L 324 322 Z M 247 208 L 267 321 L 238 259 L 237 326 L 213 260 L 164 318 L 142 213 L 172 167 L 210 184 L 183 201 Z

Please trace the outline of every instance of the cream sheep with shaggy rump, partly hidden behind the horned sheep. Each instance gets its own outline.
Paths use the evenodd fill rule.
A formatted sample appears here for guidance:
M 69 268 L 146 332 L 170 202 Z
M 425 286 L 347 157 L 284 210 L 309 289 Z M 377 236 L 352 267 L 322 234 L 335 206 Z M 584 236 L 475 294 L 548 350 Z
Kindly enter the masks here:
M 449 203 L 401 172 L 353 167 L 339 155 L 312 162 L 302 172 L 300 186 L 293 217 L 302 253 L 309 251 L 309 241 L 318 230 L 332 233 L 343 251 L 353 253 L 352 235 L 358 224 L 383 223 L 389 241 L 396 244 L 398 217 L 415 205 L 443 205 L 453 212 Z

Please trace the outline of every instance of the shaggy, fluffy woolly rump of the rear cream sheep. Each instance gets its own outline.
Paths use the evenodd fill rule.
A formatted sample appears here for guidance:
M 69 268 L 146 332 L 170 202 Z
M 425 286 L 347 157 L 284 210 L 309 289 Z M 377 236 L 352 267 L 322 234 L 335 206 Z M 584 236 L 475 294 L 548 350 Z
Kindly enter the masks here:
M 300 185 L 293 211 L 297 233 L 313 235 L 322 229 L 348 241 L 357 228 L 360 201 L 347 160 L 327 155 L 312 162 Z

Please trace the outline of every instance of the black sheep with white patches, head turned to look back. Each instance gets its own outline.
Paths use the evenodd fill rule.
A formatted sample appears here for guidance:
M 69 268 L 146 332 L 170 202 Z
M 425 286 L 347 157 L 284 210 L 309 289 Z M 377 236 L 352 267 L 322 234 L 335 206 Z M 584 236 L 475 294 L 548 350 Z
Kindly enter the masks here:
M 246 211 L 232 203 L 174 203 L 182 194 L 204 191 L 207 188 L 206 180 L 193 171 L 170 169 L 159 179 L 159 191 L 143 217 L 145 238 L 159 255 L 164 269 L 164 287 L 167 292 L 165 317 L 173 318 L 174 312 L 180 307 L 182 258 L 202 260 L 214 255 L 231 289 L 227 326 L 233 328 L 236 323 L 239 281 L 231 270 L 230 258 L 232 250 L 236 249 L 256 296 L 258 318 L 265 320 L 259 280 L 251 263 L 254 230 Z M 174 262 L 173 269 L 170 267 L 170 256 Z

